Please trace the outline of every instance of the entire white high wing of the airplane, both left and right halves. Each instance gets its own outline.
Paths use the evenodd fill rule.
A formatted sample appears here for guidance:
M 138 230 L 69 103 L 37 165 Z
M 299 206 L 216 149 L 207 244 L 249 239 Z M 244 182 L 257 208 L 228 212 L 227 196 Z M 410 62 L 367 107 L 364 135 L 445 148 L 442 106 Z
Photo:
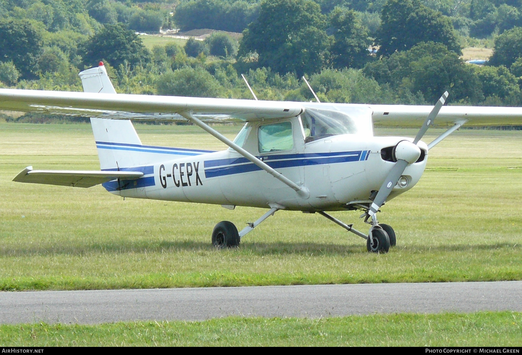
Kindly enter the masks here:
M 46 112 L 114 119 L 186 121 L 192 113 L 202 121 L 233 122 L 289 118 L 307 108 L 332 108 L 353 113 L 370 109 L 378 126 L 419 127 L 432 106 L 320 104 L 315 102 L 218 99 L 180 96 L 78 93 L 70 91 L 0 89 L 0 110 Z M 181 116 L 183 115 L 183 116 Z M 522 108 L 444 106 L 435 125 L 513 125 L 522 123 Z

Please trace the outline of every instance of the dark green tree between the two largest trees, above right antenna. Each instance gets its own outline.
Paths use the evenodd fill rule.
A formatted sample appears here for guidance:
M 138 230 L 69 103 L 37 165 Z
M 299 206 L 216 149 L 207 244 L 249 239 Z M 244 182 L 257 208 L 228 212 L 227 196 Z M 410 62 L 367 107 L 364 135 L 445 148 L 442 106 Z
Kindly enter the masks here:
M 330 13 L 330 27 L 335 38 L 330 48 L 334 67 L 362 68 L 371 58 L 368 47 L 372 41 L 355 12 L 336 7 Z

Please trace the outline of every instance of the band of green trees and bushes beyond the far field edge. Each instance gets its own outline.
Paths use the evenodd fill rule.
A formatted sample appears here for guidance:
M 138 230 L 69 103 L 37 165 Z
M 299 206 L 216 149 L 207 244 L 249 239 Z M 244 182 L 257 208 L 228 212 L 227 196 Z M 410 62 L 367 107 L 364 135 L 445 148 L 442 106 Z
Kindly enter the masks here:
M 41 4 L 55 11 L 59 1 Z M 64 4 L 85 4 L 74 1 Z M 201 1 L 182 2 L 172 21 L 180 21 L 180 13 Z M 205 41 L 189 39 L 184 46 L 169 43 L 148 50 L 129 28 L 129 16 L 127 22 L 119 21 L 120 15 L 104 23 L 96 19 L 92 32 L 82 33 L 75 27 L 81 12 L 67 13 L 67 20 L 60 15 L 63 21 L 57 23 L 65 25 L 53 25 L 53 12 L 45 28 L 37 20 L 14 16 L 21 11 L 17 8 L 33 11 L 39 0 L 25 5 L 0 0 L 0 7 L 8 9 L 0 18 L 0 85 L 81 90 L 78 72 L 103 60 L 120 93 L 250 98 L 240 76 L 244 73 L 260 99 L 313 99 L 300 80 L 305 75 L 319 98 L 329 102 L 432 104 L 448 90 L 450 104 L 521 105 L 522 28 L 495 27 L 489 65 L 469 65 L 460 58 L 462 42 L 469 39 L 463 40 L 455 28 L 455 17 L 476 11 L 477 1 L 469 1 L 468 10 L 448 7 L 447 12 L 444 4 L 454 2 L 264 0 L 212 7 L 224 1 L 205 0 L 205 6 L 208 14 L 221 11 L 221 22 L 235 12 L 238 20 L 227 26 L 245 26 L 239 42 L 216 32 Z M 89 4 L 83 18 L 91 17 L 94 5 Z M 497 13 L 506 5 L 492 4 Z M 378 11 L 377 25 L 370 10 Z M 205 24 L 215 20 L 207 16 Z

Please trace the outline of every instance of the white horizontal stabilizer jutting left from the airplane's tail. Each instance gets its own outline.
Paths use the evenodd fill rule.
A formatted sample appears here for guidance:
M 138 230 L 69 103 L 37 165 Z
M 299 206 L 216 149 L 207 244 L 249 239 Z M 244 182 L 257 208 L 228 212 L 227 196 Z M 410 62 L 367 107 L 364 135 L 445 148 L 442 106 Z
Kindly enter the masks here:
M 81 171 L 81 170 L 33 170 L 32 166 L 20 171 L 13 179 L 17 182 L 73 187 L 91 187 L 114 179 L 138 179 L 141 171 Z

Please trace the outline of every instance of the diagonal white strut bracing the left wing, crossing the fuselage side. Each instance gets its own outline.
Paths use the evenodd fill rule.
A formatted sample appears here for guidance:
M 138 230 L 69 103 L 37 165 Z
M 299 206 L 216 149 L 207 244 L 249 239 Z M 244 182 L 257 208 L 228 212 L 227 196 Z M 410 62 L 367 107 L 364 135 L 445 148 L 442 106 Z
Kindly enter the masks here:
M 198 125 L 199 127 L 203 128 L 205 131 L 207 131 L 211 135 L 215 136 L 217 139 L 219 139 L 224 144 L 227 144 L 234 151 L 238 152 L 239 154 L 241 154 L 242 156 L 247 158 L 249 161 L 251 161 L 252 163 L 257 165 L 258 167 L 260 167 L 263 170 L 265 170 L 268 174 L 274 176 L 276 179 L 281 181 L 283 184 L 288 185 L 290 188 L 295 190 L 295 192 L 297 192 L 299 194 L 299 196 L 301 196 L 302 198 L 307 199 L 307 198 L 310 197 L 310 191 L 306 187 L 299 186 L 299 185 L 295 184 L 295 182 L 293 182 L 292 180 L 287 178 L 286 176 L 282 175 L 281 173 L 278 173 L 274 168 L 272 168 L 268 164 L 260 161 L 255 155 L 252 155 L 252 154 L 248 153 L 242 147 L 240 147 L 239 145 L 237 145 L 237 144 L 233 143 L 231 140 L 229 140 L 226 136 L 222 135 L 221 133 L 219 133 L 215 129 L 211 128 L 205 122 L 203 122 L 203 121 L 199 120 L 198 118 L 194 117 L 192 112 L 184 111 L 184 112 L 180 112 L 180 114 L 181 114 L 181 116 L 183 116 L 184 118 L 186 118 L 190 122 L 194 122 L 196 125 Z

